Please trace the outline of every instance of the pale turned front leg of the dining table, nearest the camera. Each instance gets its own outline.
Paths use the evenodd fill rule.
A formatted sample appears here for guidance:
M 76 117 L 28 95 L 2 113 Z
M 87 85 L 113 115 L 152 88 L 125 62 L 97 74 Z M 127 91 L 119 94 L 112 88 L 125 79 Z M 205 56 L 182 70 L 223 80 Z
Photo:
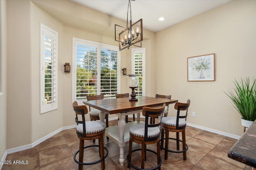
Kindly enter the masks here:
M 124 128 L 125 128 L 125 114 L 124 113 L 118 113 L 118 130 L 119 130 L 119 142 L 118 146 L 120 149 L 120 157 L 119 157 L 119 162 L 121 166 L 124 166 L 124 147 L 125 147 L 125 142 L 124 142 Z

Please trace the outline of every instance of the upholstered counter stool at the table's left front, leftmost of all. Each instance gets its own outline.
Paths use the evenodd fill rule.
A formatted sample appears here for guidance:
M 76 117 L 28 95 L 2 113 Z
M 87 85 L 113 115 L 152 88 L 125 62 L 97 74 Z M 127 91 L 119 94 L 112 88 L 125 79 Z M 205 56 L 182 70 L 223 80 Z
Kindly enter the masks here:
M 78 106 L 77 102 L 73 102 L 73 109 L 76 113 L 76 134 L 80 140 L 79 150 L 74 154 L 74 160 L 78 163 L 78 169 L 82 170 L 83 165 L 92 165 L 101 162 L 101 169 L 105 169 L 105 158 L 108 156 L 108 149 L 104 147 L 104 133 L 106 129 L 105 123 L 101 121 L 85 121 L 85 116 L 88 113 L 86 105 Z M 80 119 L 78 119 L 78 115 Z M 81 118 L 82 117 L 82 118 Z M 84 140 L 98 139 L 99 145 L 90 145 L 84 147 Z M 89 147 L 98 147 L 100 153 L 100 160 L 95 162 L 84 163 L 84 149 Z M 106 155 L 104 155 L 104 150 L 106 150 Z M 76 155 L 79 153 L 79 160 L 76 159 Z

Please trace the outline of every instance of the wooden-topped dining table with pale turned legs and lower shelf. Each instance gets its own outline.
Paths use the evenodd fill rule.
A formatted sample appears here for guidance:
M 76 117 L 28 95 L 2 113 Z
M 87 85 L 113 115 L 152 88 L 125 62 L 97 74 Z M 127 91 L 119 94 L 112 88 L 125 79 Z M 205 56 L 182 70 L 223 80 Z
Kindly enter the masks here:
M 165 104 L 174 104 L 178 100 L 136 96 L 138 101 L 129 101 L 129 98 L 110 98 L 104 100 L 90 100 L 83 103 L 100 110 L 100 121 L 104 122 L 106 113 L 118 115 L 118 125 L 106 128 L 105 134 L 110 139 L 118 143 L 120 148 L 120 165 L 124 165 L 125 142 L 129 141 L 129 128 L 140 121 L 140 112 L 143 107 L 158 107 Z M 125 122 L 125 116 L 137 113 L 137 121 Z

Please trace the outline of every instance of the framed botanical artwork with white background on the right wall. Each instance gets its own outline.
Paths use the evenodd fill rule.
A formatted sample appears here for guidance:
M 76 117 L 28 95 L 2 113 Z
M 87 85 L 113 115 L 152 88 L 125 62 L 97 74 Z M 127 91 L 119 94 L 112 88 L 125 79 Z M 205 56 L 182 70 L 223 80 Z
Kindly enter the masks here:
M 188 82 L 215 81 L 215 53 L 188 57 Z

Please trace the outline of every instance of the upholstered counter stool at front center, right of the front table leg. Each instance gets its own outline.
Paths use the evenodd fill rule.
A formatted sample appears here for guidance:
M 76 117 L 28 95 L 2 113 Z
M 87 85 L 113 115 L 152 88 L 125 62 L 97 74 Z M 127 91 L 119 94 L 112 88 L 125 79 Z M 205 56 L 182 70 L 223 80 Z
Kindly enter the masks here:
M 160 157 L 160 124 L 149 124 L 148 119 L 150 117 L 158 117 L 164 114 L 166 104 L 162 107 L 143 107 L 142 115 L 145 116 L 145 123 L 132 125 L 129 129 L 130 131 L 130 141 L 129 141 L 129 151 L 127 155 L 127 168 L 130 166 L 136 170 L 143 170 L 145 168 L 146 161 L 146 151 L 152 152 L 157 155 L 157 166 L 152 169 L 161 169 L 162 158 Z M 132 142 L 141 144 L 141 149 L 132 150 Z M 156 143 L 157 152 L 146 149 L 146 145 Z M 131 163 L 132 152 L 141 150 L 141 168 L 134 166 Z

